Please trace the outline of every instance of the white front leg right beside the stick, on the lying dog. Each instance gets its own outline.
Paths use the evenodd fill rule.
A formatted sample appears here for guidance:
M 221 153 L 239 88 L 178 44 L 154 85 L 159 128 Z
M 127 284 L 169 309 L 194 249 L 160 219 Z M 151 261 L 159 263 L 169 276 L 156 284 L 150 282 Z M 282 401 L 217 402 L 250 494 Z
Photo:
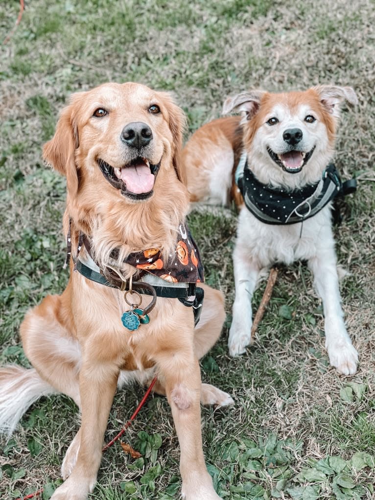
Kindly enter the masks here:
M 233 251 L 235 297 L 232 322 L 229 329 L 229 354 L 235 356 L 245 352 L 251 340 L 251 298 L 259 275 L 259 265 L 248 255 L 248 248 L 240 242 Z

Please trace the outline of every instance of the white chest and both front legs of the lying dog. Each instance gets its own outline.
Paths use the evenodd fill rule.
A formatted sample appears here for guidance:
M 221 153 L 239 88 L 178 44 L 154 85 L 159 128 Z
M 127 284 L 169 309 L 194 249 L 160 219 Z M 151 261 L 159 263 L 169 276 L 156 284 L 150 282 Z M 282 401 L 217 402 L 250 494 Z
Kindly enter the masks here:
M 251 296 L 262 267 L 275 262 L 307 260 L 315 288 L 322 298 L 325 346 L 339 373 L 355 373 L 358 355 L 351 344 L 340 306 L 330 207 L 325 206 L 301 224 L 272 225 L 257 220 L 246 207 L 239 214 L 233 251 L 235 298 L 229 330 L 229 352 L 244 352 L 251 338 Z

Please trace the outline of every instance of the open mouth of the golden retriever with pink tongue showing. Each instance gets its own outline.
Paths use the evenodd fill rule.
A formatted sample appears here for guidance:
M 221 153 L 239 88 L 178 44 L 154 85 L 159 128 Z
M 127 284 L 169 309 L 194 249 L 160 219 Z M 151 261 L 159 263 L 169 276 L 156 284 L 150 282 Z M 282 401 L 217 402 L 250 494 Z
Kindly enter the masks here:
M 153 193 L 160 161 L 152 164 L 147 158 L 139 156 L 120 168 L 109 165 L 101 158 L 97 163 L 107 181 L 116 189 L 120 189 L 121 194 L 133 199 L 147 199 Z

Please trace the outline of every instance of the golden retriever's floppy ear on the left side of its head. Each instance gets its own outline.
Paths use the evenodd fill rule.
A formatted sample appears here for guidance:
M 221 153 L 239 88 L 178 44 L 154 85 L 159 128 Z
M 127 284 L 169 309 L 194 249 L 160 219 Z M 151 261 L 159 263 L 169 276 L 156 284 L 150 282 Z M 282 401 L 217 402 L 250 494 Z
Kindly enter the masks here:
M 71 103 L 61 111 L 53 137 L 43 146 L 44 160 L 66 176 L 66 187 L 70 194 L 75 194 L 78 190 L 74 160 L 74 152 L 78 147 L 78 133 L 73 109 Z

